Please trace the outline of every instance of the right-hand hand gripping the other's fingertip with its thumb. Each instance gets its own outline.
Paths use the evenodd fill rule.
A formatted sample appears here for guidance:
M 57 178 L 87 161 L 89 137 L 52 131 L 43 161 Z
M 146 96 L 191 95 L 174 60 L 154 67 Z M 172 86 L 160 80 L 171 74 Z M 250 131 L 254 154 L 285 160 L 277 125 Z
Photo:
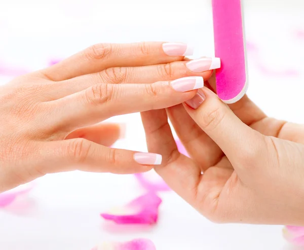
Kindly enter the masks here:
M 268 118 L 247 96 L 225 105 L 206 85 L 167 112 L 142 113 L 149 152 L 163 155 L 155 170 L 211 221 L 304 226 L 304 126 Z

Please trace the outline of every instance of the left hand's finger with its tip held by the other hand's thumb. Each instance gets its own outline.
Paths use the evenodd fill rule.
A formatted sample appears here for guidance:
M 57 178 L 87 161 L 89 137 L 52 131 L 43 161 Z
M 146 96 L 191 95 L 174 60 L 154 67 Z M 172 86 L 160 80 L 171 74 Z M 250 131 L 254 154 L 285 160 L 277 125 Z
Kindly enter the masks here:
M 66 131 L 112 116 L 167 108 L 192 98 L 196 93 L 192 90 L 202 86 L 202 77 L 154 84 L 99 84 L 49 104 L 56 111 L 53 124 Z

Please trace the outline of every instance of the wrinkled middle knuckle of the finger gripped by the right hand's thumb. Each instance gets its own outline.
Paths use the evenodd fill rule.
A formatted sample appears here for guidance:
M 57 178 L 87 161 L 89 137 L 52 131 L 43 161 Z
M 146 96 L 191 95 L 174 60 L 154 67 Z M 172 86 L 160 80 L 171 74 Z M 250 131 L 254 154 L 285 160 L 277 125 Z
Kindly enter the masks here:
M 86 91 L 85 98 L 88 103 L 100 105 L 110 101 L 112 93 L 110 84 L 96 84 Z

